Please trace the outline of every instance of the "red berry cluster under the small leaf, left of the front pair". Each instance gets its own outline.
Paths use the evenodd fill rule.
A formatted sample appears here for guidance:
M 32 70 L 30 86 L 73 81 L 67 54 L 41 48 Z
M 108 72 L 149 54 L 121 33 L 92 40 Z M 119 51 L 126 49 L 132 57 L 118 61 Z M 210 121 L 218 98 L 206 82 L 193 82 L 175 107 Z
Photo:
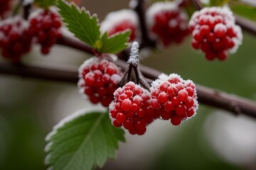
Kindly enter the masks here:
M 88 96 L 92 103 L 107 107 L 114 99 L 122 72 L 114 63 L 94 57 L 82 64 L 79 77 L 80 93 Z

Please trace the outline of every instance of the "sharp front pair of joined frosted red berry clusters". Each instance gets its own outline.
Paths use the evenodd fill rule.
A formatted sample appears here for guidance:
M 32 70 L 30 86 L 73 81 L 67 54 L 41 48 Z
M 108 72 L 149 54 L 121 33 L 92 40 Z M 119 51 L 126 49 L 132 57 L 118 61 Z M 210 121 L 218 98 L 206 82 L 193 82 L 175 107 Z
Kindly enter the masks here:
M 162 74 L 151 84 L 150 93 L 142 86 L 128 82 L 114 92 L 110 115 L 116 127 L 124 127 L 134 135 L 143 135 L 146 126 L 161 118 L 180 125 L 196 115 L 198 101 L 196 86 L 177 74 Z

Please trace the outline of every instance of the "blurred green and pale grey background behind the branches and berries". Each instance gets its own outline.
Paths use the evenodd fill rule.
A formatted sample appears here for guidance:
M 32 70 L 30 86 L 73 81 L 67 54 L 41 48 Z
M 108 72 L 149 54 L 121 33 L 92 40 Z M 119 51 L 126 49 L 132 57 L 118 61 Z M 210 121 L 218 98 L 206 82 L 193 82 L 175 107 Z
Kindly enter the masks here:
M 84 1 L 102 21 L 128 0 Z M 238 52 L 225 62 L 208 62 L 192 50 L 191 37 L 181 45 L 152 52 L 142 64 L 167 74 L 177 73 L 197 84 L 256 99 L 256 37 L 244 33 Z M 75 67 L 90 57 L 56 45 L 42 57 L 38 47 L 24 60 L 47 67 Z M 0 169 L 46 169 L 44 138 L 53 125 L 80 108 L 92 107 L 75 84 L 0 74 Z M 100 107 L 100 106 L 95 106 Z M 195 118 L 174 127 L 158 120 L 143 136 L 127 133 L 117 159 L 103 169 L 256 169 L 256 120 L 200 105 Z

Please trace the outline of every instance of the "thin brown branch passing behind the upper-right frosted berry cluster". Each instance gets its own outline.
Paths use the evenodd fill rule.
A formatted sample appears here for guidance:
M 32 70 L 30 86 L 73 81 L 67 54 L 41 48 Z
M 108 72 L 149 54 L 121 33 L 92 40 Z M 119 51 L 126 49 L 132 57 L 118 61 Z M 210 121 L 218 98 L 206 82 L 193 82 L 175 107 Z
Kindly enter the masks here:
M 193 0 L 193 4 L 196 6 L 198 10 L 201 10 L 201 8 L 203 8 L 200 0 Z M 252 33 L 253 35 L 256 35 L 255 22 L 235 15 L 235 23 L 237 23 L 242 28 L 242 30 L 246 30 L 247 32 Z

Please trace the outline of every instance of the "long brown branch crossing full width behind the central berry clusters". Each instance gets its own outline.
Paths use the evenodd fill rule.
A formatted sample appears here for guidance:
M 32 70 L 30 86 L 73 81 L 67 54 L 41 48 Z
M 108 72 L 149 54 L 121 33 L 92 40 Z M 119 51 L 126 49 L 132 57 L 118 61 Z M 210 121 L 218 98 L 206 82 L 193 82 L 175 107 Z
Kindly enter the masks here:
M 116 63 L 119 65 L 119 67 L 127 69 L 126 62 L 118 60 Z M 140 68 L 145 77 L 147 77 L 146 75 L 150 74 L 150 78 L 147 77 L 149 81 L 152 81 L 151 78 L 156 79 L 159 74 L 161 74 L 161 72 L 149 67 L 141 66 Z M 78 82 L 78 70 L 76 69 L 51 69 L 46 67 L 33 67 L 23 64 L 0 62 L 0 72 L 1 74 L 16 75 L 24 78 L 61 81 L 75 84 Z M 196 85 L 196 89 L 198 93 L 198 101 L 202 104 L 213 106 L 215 108 L 222 108 L 225 111 L 235 113 L 235 115 L 244 114 L 256 118 L 255 101 L 226 94 L 223 91 L 209 89 L 198 84 Z

